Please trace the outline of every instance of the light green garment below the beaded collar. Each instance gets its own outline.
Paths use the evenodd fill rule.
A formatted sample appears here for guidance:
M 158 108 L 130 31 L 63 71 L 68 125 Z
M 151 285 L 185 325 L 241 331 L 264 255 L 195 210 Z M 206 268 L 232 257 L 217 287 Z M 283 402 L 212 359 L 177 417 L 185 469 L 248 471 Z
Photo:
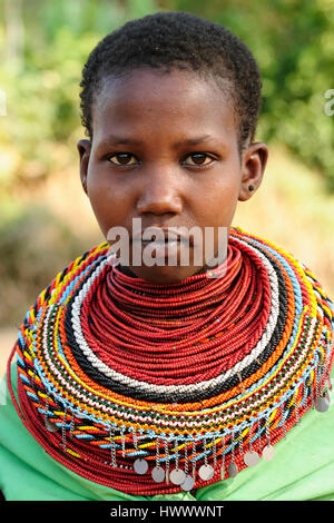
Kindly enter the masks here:
M 16 386 L 16 368 L 12 368 Z M 7 501 L 334 501 L 334 402 L 308 411 L 275 445 L 275 457 L 235 478 L 190 493 L 124 494 L 92 483 L 52 460 L 21 423 L 7 387 L 0 405 L 0 490 Z M 0 398 L 1 399 L 1 398 Z M 2 401 L 3 402 L 3 397 Z

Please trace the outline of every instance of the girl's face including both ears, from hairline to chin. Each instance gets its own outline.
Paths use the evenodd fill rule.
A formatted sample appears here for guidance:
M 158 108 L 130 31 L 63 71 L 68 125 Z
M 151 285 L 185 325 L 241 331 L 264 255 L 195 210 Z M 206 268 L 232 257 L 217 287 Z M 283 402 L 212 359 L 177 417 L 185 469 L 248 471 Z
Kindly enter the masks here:
M 197 273 L 205 256 L 198 265 L 194 253 L 197 247 L 205 251 L 205 228 L 214 228 L 217 253 L 218 229 L 228 234 L 237 201 L 254 194 L 249 185 L 261 185 L 267 159 L 264 144 L 252 144 L 240 158 L 229 95 L 195 73 L 136 70 L 105 81 L 94 106 L 92 129 L 91 141 L 78 142 L 80 176 L 106 239 L 112 227 L 124 227 L 131 253 L 131 246 L 138 247 L 131 241 L 134 218 L 140 218 L 143 231 L 151 226 L 188 231 L 197 227 L 203 244 L 196 245 L 193 237 L 186 266 L 178 250 L 174 265 L 168 258 L 153 266 L 129 259 L 135 275 L 156 284 Z M 141 244 L 143 251 L 147 245 Z

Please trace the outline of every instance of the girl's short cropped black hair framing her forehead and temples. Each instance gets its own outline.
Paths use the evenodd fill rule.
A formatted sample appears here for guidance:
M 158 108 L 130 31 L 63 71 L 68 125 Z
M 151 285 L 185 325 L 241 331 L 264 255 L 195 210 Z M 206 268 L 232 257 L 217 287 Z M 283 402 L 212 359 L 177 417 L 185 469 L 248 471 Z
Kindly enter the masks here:
M 144 67 L 195 71 L 210 76 L 225 91 L 228 86 L 239 148 L 254 139 L 262 98 L 256 60 L 224 26 L 183 11 L 131 20 L 107 34 L 90 52 L 80 82 L 81 122 L 90 138 L 95 97 L 102 80 Z

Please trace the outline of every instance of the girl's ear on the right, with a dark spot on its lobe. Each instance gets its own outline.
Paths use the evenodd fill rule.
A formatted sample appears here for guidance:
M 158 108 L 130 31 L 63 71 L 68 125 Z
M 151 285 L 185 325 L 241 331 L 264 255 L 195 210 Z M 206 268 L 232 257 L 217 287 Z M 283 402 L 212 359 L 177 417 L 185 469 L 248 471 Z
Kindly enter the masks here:
M 268 147 L 263 142 L 250 144 L 243 152 L 239 201 L 249 199 L 261 186 L 267 159 Z M 253 188 L 249 189 L 249 186 Z

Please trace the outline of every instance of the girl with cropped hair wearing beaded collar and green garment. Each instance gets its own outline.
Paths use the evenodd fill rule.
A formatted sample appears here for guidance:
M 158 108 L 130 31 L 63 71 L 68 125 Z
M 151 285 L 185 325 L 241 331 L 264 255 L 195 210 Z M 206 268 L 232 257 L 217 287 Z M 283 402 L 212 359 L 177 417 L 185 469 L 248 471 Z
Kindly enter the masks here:
M 108 34 L 81 87 L 80 177 L 105 241 L 22 322 L 4 497 L 333 500 L 333 304 L 232 226 L 267 160 L 249 50 L 156 13 Z

